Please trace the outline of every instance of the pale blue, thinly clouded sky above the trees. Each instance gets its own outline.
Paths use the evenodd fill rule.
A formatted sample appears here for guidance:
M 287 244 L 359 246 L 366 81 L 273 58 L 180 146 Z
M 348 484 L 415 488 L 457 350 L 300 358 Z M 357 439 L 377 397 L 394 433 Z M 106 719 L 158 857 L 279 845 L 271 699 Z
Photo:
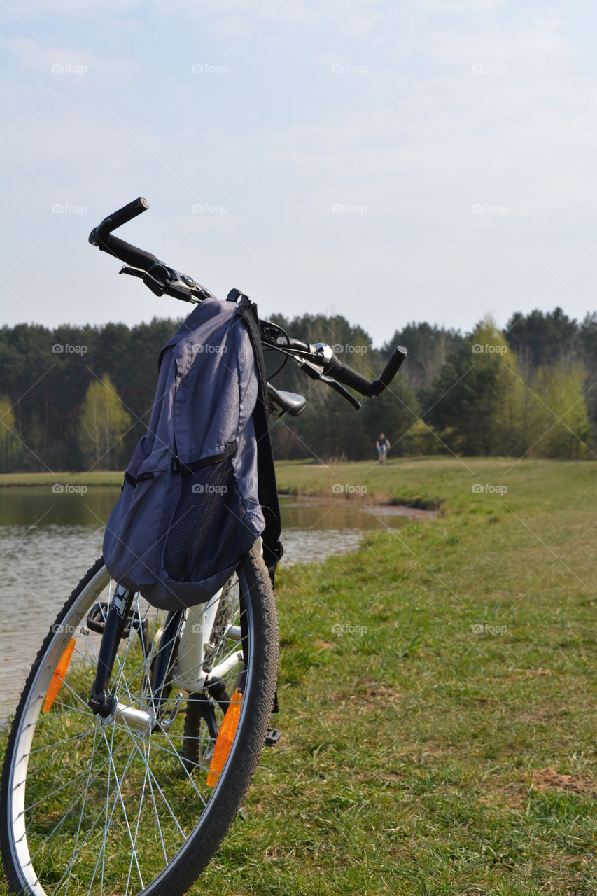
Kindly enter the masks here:
M 376 345 L 597 307 L 592 2 L 2 10 L 2 323 L 185 313 L 88 245 L 139 195 L 118 236 L 262 316 L 343 314 Z

